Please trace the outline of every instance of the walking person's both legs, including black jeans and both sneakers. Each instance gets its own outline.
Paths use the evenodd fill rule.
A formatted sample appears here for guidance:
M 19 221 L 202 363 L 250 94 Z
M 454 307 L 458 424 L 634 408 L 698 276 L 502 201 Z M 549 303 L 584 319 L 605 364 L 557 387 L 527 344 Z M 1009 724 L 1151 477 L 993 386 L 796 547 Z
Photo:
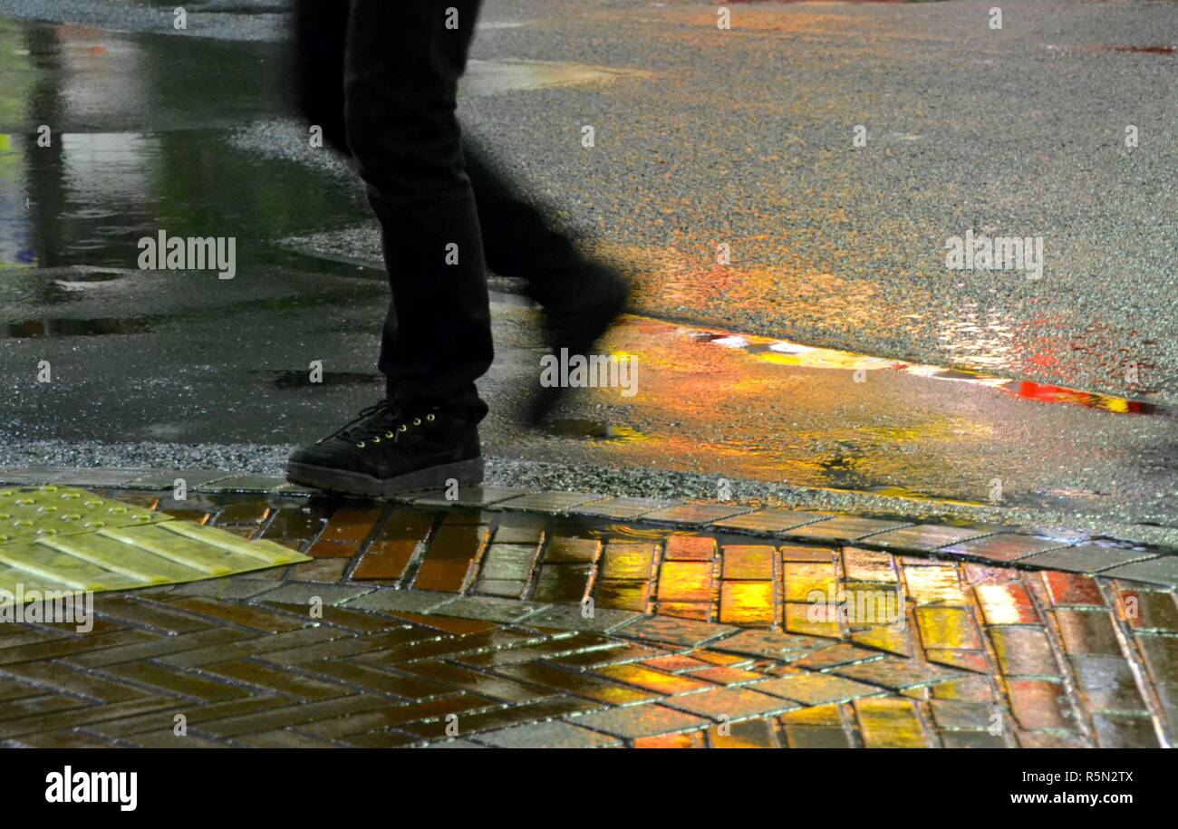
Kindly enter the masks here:
M 479 2 L 298 0 L 299 106 L 355 159 L 391 290 L 385 399 L 297 451 L 287 476 L 298 483 L 388 493 L 482 479 L 487 405 L 475 380 L 494 358 L 488 264 L 529 281 L 555 349 L 587 353 L 624 304 L 624 281 L 463 141 L 456 99 Z M 537 390 L 531 419 L 558 393 Z

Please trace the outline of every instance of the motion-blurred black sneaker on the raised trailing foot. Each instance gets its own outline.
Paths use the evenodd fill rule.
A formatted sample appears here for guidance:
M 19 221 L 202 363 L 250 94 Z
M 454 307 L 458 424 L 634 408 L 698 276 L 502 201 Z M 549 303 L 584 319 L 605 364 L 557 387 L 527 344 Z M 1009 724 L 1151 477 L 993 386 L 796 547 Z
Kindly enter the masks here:
M 538 297 L 544 305 L 552 353 L 560 354 L 561 349 L 568 349 L 569 354 L 589 357 L 597 340 L 626 309 L 629 296 L 630 289 L 622 274 L 601 263 L 585 261 L 577 274 L 575 294 L 565 290 L 552 297 Z M 560 386 L 540 386 L 528 406 L 531 425 L 540 425 L 563 393 Z

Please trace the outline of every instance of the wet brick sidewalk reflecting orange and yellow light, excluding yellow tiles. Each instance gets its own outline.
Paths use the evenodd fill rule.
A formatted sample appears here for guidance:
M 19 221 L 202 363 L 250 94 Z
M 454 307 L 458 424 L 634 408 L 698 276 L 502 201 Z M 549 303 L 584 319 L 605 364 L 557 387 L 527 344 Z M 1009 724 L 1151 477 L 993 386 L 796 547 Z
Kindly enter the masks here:
M 102 592 L 87 634 L 0 625 L 6 745 L 1152 747 L 1178 731 L 1170 555 L 568 492 L 88 489 L 312 561 Z

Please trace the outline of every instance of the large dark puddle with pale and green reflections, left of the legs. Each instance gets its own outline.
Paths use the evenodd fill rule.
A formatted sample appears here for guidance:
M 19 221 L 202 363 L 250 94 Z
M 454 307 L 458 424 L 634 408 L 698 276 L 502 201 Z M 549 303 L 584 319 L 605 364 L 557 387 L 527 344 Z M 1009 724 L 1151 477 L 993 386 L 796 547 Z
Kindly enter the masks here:
M 289 114 L 278 48 L 231 46 L 0 20 L 0 272 L 137 268 L 138 240 L 160 230 L 236 238 L 239 266 L 280 264 L 267 240 L 368 220 L 359 188 L 227 141 L 237 125 Z M 48 147 L 42 122 L 61 125 Z M 71 289 L 15 290 L 0 279 L 0 305 Z

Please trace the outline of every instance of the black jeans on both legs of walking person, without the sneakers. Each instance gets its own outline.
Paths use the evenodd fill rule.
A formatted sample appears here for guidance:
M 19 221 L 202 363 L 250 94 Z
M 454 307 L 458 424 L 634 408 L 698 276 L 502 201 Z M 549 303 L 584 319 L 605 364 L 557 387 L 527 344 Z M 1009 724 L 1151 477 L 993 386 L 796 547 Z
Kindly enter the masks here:
M 485 267 L 528 279 L 547 305 L 571 290 L 581 254 L 463 140 L 456 95 L 479 4 L 297 0 L 296 26 L 303 114 L 355 158 L 380 223 L 389 398 L 482 418 Z

